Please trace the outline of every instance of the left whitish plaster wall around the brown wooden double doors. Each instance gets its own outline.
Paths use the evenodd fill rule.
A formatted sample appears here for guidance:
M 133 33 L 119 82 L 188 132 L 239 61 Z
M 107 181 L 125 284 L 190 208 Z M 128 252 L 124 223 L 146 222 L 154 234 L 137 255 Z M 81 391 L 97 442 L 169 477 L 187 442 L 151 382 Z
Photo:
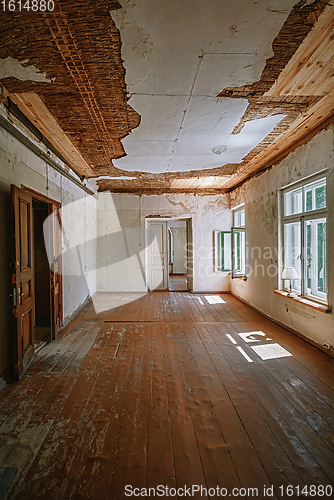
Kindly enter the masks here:
M 12 221 L 10 186 L 15 184 L 33 189 L 49 198 L 61 202 L 65 227 L 71 233 L 85 234 L 86 241 L 93 240 L 89 252 L 81 245 L 81 260 L 85 275 L 68 275 L 66 267 L 63 276 L 63 307 L 66 320 L 95 291 L 95 236 L 96 214 L 94 197 L 61 176 L 46 165 L 39 157 L 23 146 L 7 131 L 0 127 L 0 377 L 6 375 L 13 364 L 13 328 L 11 304 L 11 270 L 12 261 Z M 69 235 L 73 240 L 73 235 Z M 77 256 L 72 254 L 73 258 Z M 65 259 L 67 268 L 71 268 L 69 259 Z

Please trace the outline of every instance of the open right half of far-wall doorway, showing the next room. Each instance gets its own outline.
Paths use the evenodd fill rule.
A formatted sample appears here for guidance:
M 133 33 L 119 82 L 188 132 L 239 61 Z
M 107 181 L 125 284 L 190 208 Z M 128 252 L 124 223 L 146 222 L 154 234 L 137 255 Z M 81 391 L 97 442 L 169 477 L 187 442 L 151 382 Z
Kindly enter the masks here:
M 187 221 L 168 222 L 169 290 L 186 291 L 188 287 Z

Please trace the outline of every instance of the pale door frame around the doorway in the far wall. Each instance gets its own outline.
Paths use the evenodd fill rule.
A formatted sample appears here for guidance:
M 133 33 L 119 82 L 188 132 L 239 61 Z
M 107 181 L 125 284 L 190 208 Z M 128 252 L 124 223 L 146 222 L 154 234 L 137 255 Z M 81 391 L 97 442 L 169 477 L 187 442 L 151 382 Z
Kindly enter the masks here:
M 149 277 L 148 277 L 148 223 L 149 222 L 172 222 L 175 220 L 186 221 L 187 223 L 187 279 L 188 279 L 188 290 L 191 292 L 193 290 L 193 268 L 194 268 L 194 252 L 193 252 L 193 219 L 190 216 L 180 216 L 180 217 L 145 217 L 145 266 L 146 266 L 146 290 L 154 291 L 149 289 Z M 167 225 L 168 228 L 168 225 Z M 165 251 L 168 256 L 168 238 L 166 238 L 166 248 Z M 169 259 L 167 259 L 167 289 L 169 289 Z M 156 290 L 159 291 L 159 290 Z

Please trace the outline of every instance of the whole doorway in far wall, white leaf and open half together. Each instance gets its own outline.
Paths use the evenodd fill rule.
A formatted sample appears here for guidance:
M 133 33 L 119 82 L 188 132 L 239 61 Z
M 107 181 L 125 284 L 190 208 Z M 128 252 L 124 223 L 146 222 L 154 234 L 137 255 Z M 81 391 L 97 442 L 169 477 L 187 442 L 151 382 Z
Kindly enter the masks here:
M 146 219 L 148 290 L 192 290 L 192 220 Z

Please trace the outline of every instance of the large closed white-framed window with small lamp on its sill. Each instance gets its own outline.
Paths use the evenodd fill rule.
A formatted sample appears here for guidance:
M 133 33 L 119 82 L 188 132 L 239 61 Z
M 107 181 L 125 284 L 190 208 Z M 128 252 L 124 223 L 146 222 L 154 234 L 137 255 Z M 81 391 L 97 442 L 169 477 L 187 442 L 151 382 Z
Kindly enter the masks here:
M 327 300 L 326 195 L 324 176 L 283 190 L 283 265 L 297 270 L 295 292 L 323 301 Z

